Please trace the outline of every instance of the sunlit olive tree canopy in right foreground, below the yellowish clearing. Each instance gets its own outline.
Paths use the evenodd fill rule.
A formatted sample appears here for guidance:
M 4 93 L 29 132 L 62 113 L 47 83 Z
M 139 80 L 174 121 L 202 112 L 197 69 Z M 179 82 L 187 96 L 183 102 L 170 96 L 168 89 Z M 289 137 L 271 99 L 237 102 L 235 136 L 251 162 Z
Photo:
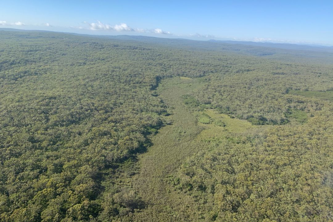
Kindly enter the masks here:
M 205 200 L 208 220 L 331 221 L 332 122 L 322 128 L 331 114 L 269 128 L 264 139 L 206 139 L 180 167 L 176 187 Z

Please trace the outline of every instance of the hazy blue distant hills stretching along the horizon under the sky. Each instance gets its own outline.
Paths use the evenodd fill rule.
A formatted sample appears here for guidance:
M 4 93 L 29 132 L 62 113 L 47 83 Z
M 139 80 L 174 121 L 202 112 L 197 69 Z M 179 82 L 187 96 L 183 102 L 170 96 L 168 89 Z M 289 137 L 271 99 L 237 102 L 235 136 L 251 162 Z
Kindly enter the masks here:
M 297 45 L 297 44 L 282 44 L 282 43 L 260 43 L 260 42 L 245 42 L 245 41 L 219 41 L 219 40 L 189 40 L 181 38 L 158 38 L 152 36 L 131 36 L 131 35 L 88 35 L 78 33 L 65 33 L 53 31 L 39 31 L 39 30 L 21 30 L 12 28 L 0 28 L 0 31 L 6 32 L 24 32 L 24 33 L 52 33 L 54 34 L 70 34 L 72 36 L 81 36 L 87 38 L 96 38 L 104 40 L 115 40 L 125 42 L 137 42 L 149 45 L 156 45 L 158 47 L 169 48 L 182 48 L 183 50 L 193 51 L 229 51 L 243 55 L 253 56 L 278 56 L 281 60 L 292 61 L 295 56 L 307 59 L 324 59 L 326 62 L 331 61 L 333 58 L 333 47 L 315 46 L 315 45 Z M 286 55 L 289 55 L 286 57 Z

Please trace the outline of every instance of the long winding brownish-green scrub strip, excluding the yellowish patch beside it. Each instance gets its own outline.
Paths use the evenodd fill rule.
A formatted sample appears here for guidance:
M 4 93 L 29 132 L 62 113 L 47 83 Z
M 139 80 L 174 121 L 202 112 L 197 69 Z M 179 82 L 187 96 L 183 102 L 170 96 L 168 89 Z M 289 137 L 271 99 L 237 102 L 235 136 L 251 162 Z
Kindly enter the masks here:
M 152 137 L 153 146 L 139 157 L 139 173 L 134 176 L 135 191 L 146 207 L 130 215 L 131 221 L 197 221 L 200 211 L 190 210 L 189 205 L 199 208 L 191 197 L 174 189 L 169 183 L 185 158 L 202 149 L 194 139 L 203 129 L 197 124 L 195 113 L 183 103 L 183 96 L 199 87 L 198 79 L 172 78 L 161 82 L 157 91 L 170 108 L 172 115 L 165 116 L 168 124 Z M 192 208 L 193 209 L 193 208 Z M 159 213 L 156 213 L 159 212 Z M 126 218 L 124 218 L 126 219 Z

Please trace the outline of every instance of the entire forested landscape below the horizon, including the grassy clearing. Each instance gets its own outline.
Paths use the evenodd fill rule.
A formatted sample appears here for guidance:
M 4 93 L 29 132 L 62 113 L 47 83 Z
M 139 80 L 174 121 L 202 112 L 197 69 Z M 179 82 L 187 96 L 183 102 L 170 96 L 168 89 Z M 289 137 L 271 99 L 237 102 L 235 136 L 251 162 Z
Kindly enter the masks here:
M 333 221 L 332 52 L 0 40 L 1 221 Z

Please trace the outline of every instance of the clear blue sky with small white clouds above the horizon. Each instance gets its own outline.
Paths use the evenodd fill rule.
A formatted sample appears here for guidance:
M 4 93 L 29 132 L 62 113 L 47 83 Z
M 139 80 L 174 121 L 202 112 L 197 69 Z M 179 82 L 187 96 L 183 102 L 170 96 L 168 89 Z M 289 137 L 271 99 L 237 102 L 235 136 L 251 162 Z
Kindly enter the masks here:
M 1 27 L 333 45 L 333 0 L 2 0 Z

